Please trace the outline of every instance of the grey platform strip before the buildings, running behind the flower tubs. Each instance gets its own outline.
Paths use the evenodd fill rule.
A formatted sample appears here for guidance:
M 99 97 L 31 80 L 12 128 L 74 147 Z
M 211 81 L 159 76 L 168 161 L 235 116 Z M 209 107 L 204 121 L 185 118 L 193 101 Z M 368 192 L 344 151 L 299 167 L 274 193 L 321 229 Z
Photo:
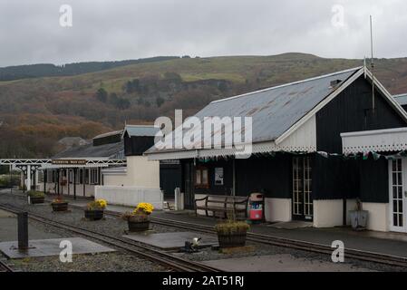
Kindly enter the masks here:
M 73 200 L 70 203 L 75 206 L 86 206 L 87 199 Z M 107 210 L 124 213 L 131 212 L 134 208 L 108 205 Z M 218 219 L 198 216 L 191 211 L 155 210 L 152 217 L 165 218 L 167 220 L 184 221 L 199 225 L 214 226 Z M 271 237 L 283 237 L 305 242 L 317 243 L 331 247 L 334 240 L 344 242 L 344 247 L 355 250 L 363 250 L 391 256 L 407 258 L 407 234 L 376 231 L 354 231 L 350 227 L 296 227 L 281 228 L 271 224 L 252 225 L 250 231 Z

